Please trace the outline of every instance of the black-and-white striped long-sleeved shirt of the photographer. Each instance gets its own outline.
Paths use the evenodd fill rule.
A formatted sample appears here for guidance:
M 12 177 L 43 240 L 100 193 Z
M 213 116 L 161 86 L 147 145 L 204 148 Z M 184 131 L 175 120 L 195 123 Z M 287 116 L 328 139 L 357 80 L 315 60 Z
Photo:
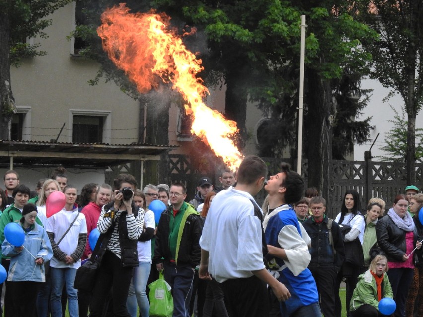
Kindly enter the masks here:
M 119 210 L 115 214 L 116 225 L 113 229 L 112 236 L 107 244 L 107 249 L 116 254 L 117 257 L 121 258 L 121 247 L 119 242 L 119 220 L 120 216 L 124 210 Z M 109 210 L 107 210 L 109 212 Z M 100 218 L 98 218 L 97 222 L 97 229 L 100 233 L 106 233 L 107 230 L 112 225 L 112 219 L 110 217 L 104 217 L 106 211 L 104 210 L 104 206 L 101 209 Z M 137 240 L 140 237 L 143 229 L 144 229 L 144 215 L 145 212 L 142 208 L 138 208 L 137 217 L 134 217 L 134 214 L 126 215 L 126 222 L 127 222 L 127 230 L 128 230 L 128 238 L 132 240 Z

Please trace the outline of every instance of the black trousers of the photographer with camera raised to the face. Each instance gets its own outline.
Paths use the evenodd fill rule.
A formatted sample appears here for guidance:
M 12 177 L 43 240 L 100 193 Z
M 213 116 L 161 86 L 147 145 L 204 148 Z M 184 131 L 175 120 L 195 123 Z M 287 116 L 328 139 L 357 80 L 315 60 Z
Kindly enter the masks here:
M 131 283 L 133 268 L 122 267 L 121 259 L 106 251 L 98 268 L 97 280 L 92 292 L 90 317 L 101 317 L 112 289 L 113 313 L 116 317 L 131 317 L 126 309 L 126 299 Z

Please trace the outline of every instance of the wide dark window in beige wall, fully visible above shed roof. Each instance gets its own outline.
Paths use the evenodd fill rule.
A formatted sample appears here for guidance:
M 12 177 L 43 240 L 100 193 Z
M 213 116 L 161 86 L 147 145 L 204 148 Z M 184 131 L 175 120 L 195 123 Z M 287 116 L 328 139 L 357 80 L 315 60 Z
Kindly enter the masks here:
M 73 116 L 74 143 L 102 143 L 103 117 L 101 116 Z

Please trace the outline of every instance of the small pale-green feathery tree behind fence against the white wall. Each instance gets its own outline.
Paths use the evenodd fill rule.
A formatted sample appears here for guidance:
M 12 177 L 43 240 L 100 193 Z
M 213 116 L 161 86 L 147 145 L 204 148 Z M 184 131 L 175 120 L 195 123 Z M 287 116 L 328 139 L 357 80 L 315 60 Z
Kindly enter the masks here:
M 387 156 L 377 156 L 384 162 L 407 162 L 407 121 L 404 113 L 400 116 L 398 111 L 391 106 L 394 111 L 394 119 L 388 120 L 394 127 L 385 133 L 386 145 L 380 147 L 382 151 L 388 153 Z M 423 163 L 423 129 L 416 129 L 416 160 Z M 411 183 L 410 183 L 411 184 Z

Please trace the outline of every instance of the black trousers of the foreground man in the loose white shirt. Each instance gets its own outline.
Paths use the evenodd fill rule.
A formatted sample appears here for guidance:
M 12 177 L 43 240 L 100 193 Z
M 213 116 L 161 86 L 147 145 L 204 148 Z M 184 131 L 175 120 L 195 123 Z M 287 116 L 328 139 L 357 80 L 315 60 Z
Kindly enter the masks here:
M 220 284 L 229 317 L 268 316 L 266 284 L 256 276 L 229 279 Z

